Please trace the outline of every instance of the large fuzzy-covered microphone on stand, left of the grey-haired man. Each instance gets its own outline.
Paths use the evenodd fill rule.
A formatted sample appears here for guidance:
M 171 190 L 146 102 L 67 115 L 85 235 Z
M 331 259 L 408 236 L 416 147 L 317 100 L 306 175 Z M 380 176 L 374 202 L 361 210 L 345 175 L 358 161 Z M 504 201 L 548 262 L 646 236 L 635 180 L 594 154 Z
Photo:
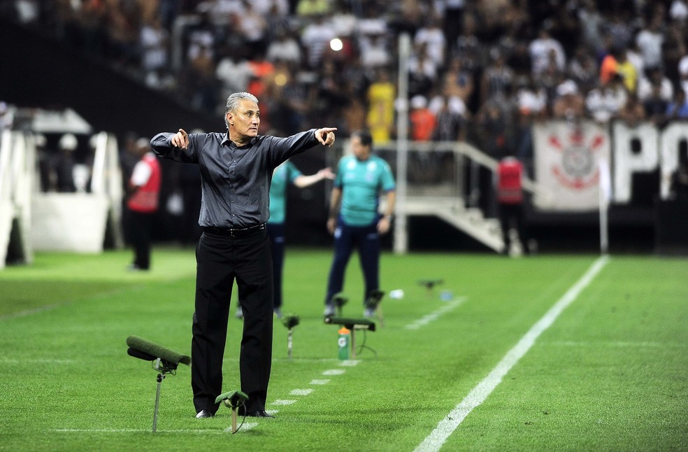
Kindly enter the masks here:
M 157 429 L 157 414 L 160 404 L 160 386 L 165 379 L 165 374 L 174 375 L 178 365 L 191 364 L 191 357 L 165 348 L 155 342 L 147 341 L 138 336 L 127 337 L 127 354 L 145 361 L 152 361 L 153 369 L 157 374 L 157 390 L 155 392 L 155 411 L 153 411 L 153 433 Z

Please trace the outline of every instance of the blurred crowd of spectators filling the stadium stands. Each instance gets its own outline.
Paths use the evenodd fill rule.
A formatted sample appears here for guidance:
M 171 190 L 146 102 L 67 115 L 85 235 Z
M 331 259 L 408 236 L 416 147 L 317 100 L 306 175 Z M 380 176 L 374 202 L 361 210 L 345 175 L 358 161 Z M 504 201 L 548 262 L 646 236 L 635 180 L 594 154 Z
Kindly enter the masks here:
M 9 5 L 9 6 L 8 6 Z M 530 125 L 688 118 L 684 0 L 15 0 L 3 13 L 199 111 L 248 91 L 263 130 L 394 139 L 397 45 L 413 43 L 413 140 L 531 157 Z

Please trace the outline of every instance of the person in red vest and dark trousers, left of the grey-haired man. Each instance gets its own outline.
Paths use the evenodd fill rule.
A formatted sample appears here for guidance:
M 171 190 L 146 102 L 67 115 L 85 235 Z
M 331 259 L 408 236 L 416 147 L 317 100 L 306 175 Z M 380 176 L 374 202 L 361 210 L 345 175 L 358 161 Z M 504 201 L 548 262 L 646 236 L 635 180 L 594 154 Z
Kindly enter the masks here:
M 158 210 L 162 171 L 147 139 L 139 139 L 134 149 L 140 158 L 127 184 L 127 232 L 134 246 L 134 262 L 130 270 L 150 269 L 150 240 L 155 213 Z

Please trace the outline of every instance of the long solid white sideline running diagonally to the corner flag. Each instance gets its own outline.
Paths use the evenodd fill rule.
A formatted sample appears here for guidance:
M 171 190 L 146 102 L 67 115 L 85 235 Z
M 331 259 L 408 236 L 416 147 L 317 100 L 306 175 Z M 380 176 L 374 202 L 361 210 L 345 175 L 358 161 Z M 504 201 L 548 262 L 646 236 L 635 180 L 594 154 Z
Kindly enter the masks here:
M 608 260 L 609 257 L 606 255 L 599 257 L 588 271 L 585 272 L 582 278 L 568 289 L 564 296 L 545 313 L 545 316 L 540 318 L 540 320 L 526 332 L 525 336 L 518 341 L 518 344 L 504 355 L 504 358 L 502 358 L 496 367 L 492 369 L 492 372 L 482 379 L 482 381 L 478 383 L 478 386 L 475 386 L 475 388 L 466 395 L 464 400 L 461 400 L 461 403 L 452 409 L 452 411 L 437 424 L 435 430 L 430 432 L 430 435 L 428 435 L 422 443 L 418 444 L 415 448 L 415 452 L 439 451 L 449 435 L 459 427 L 459 424 L 464 421 L 466 416 L 468 416 L 475 407 L 485 402 L 487 396 L 489 396 L 494 388 L 501 383 L 503 376 L 505 376 L 523 355 L 529 351 L 533 344 L 535 344 L 535 340 L 538 336 L 540 336 L 543 331 L 547 330 L 547 328 L 554 323 L 554 320 L 557 320 L 559 314 L 561 314 L 561 312 L 578 297 L 580 292 L 589 285 Z

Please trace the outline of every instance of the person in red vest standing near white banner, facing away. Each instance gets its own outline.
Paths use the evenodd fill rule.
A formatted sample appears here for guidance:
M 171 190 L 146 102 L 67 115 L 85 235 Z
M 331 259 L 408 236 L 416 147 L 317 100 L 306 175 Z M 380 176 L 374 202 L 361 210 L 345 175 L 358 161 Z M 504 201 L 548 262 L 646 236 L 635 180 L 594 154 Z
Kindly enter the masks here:
M 513 156 L 504 157 L 497 165 L 497 204 L 499 223 L 504 239 L 502 254 L 511 250 L 509 229 L 513 226 L 518 234 L 524 253 L 528 253 L 526 225 L 523 211 L 523 164 Z

